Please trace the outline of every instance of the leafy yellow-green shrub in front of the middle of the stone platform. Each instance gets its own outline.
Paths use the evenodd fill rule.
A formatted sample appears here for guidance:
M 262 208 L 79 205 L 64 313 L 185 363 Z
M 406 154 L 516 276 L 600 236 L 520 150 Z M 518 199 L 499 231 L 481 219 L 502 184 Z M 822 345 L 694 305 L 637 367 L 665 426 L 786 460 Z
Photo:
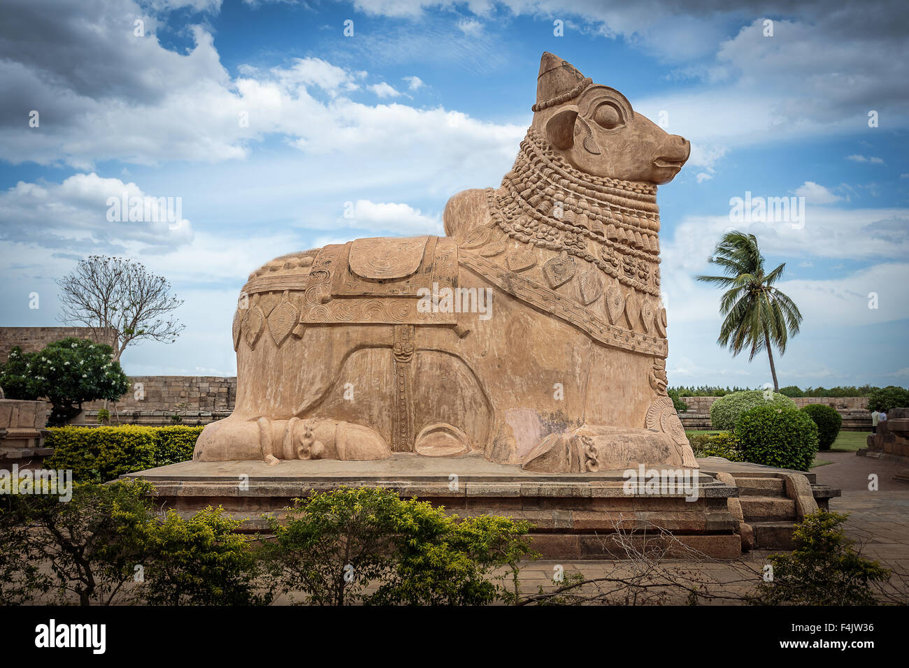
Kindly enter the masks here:
M 381 488 L 313 492 L 295 499 L 285 522 L 268 520 L 275 580 L 310 604 L 512 603 L 519 562 L 537 556 L 528 523 L 460 519 Z M 514 592 L 498 582 L 509 577 Z M 375 593 L 366 593 L 370 583 L 379 584 Z

